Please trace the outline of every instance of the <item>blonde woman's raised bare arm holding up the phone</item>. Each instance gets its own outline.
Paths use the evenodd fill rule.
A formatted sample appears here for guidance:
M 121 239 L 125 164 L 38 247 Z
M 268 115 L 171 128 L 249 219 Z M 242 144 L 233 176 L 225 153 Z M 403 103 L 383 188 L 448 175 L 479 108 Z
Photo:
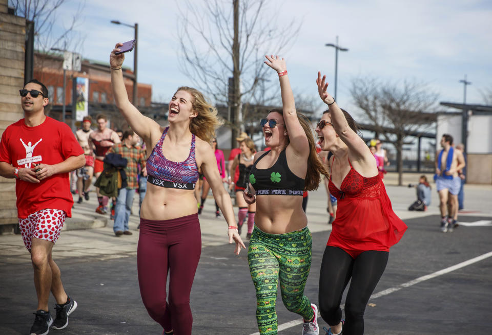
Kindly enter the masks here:
M 111 86 L 113 87 L 113 97 L 121 115 L 127 120 L 128 124 L 144 139 L 150 143 L 151 132 L 157 130 L 160 133 L 160 126 L 154 120 L 142 115 L 138 109 L 128 100 L 127 88 L 123 80 L 123 71 L 121 66 L 125 60 L 125 54 L 116 55 L 122 43 L 117 43 L 115 49 L 111 52 L 109 62 L 111 64 Z M 136 103 L 134 101 L 134 103 Z

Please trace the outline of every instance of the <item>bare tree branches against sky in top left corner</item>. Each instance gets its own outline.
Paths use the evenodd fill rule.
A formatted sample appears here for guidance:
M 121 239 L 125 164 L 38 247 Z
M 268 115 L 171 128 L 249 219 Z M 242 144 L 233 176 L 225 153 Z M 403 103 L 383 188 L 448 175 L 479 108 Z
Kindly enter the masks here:
M 34 22 L 34 47 L 43 52 L 51 48 L 72 49 L 81 51 L 80 37 L 75 38 L 75 27 L 80 21 L 84 2 L 79 2 L 68 26 L 57 27 L 60 22 L 57 10 L 66 3 L 66 0 L 9 0 L 10 6 L 17 16 L 25 17 Z M 75 50 L 73 50 L 75 49 Z

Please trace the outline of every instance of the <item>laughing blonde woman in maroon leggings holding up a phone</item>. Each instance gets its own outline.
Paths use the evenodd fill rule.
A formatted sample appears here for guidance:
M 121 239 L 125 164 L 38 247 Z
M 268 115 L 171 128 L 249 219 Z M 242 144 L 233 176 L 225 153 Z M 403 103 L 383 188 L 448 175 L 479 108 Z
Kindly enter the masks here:
M 143 116 L 128 100 L 121 65 L 124 54 L 111 52 L 111 82 L 116 106 L 148 150 L 147 194 L 140 212 L 137 249 L 140 294 L 149 315 L 165 333 L 191 334 L 190 292 L 201 252 L 194 186 L 198 167 L 213 190 L 229 229 L 235 254 L 245 248 L 237 233 L 231 198 L 223 188 L 210 146 L 217 111 L 191 87 L 179 87 L 169 102 L 169 127 Z M 169 272 L 169 297 L 166 281 Z M 166 301 L 168 298 L 168 302 Z

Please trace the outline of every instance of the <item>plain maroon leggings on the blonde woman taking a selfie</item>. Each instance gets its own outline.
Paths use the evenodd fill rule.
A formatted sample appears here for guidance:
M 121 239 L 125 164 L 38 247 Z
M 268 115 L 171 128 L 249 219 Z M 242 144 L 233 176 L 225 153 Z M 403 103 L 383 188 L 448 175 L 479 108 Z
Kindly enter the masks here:
M 162 221 L 140 218 L 137 249 L 140 294 L 151 318 L 165 331 L 173 329 L 176 335 L 191 334 L 190 292 L 200 253 L 198 214 Z

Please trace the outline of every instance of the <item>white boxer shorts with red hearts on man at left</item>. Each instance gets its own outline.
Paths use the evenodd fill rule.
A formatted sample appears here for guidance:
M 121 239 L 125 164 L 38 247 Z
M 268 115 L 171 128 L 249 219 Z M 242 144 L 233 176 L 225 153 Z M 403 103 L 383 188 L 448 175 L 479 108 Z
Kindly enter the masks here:
M 19 218 L 20 235 L 27 250 L 32 248 L 33 237 L 56 243 L 66 217 L 67 213 L 60 209 L 42 209 L 25 219 Z

